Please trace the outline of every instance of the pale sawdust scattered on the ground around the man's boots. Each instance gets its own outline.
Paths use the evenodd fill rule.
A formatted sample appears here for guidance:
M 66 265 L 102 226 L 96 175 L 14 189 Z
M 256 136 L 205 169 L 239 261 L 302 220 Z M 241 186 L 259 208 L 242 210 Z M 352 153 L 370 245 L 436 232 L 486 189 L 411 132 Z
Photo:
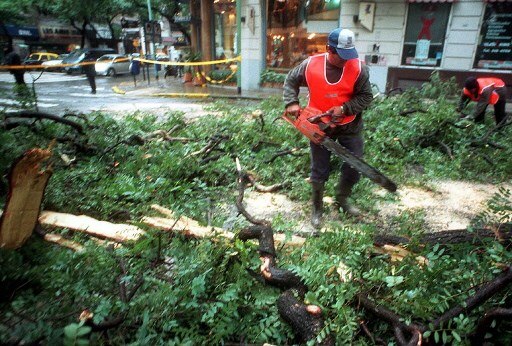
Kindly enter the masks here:
M 512 190 L 512 182 L 501 184 L 483 184 L 465 181 L 438 181 L 431 188 L 412 186 L 400 187 L 397 200 L 379 202 L 377 220 L 386 224 L 388 220 L 401 213 L 423 213 L 425 226 L 432 232 L 464 229 L 487 207 L 489 199 L 500 187 Z M 386 193 L 375 190 L 376 194 Z M 324 198 L 329 202 L 330 198 Z M 309 225 L 309 204 L 292 201 L 278 193 L 259 193 L 246 191 L 244 197 L 246 210 L 259 219 L 273 220 L 281 217 L 297 223 L 297 233 L 311 232 Z M 327 218 L 329 216 L 326 216 Z

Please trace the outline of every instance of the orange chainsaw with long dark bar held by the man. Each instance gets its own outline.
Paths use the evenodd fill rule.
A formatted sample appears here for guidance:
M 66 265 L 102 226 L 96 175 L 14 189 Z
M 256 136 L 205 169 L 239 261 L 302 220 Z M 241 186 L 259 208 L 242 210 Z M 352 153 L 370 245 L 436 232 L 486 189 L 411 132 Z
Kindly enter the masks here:
M 374 183 L 390 192 L 395 192 L 397 186 L 393 181 L 376 168 L 370 166 L 363 159 L 352 154 L 350 150 L 328 137 L 326 131 L 328 132 L 330 129 L 333 129 L 340 122 L 333 119 L 332 113 L 319 113 L 321 112 L 312 110 L 311 108 L 305 108 L 300 112 L 297 118 L 285 112 L 283 119 L 292 124 L 300 133 L 309 138 L 310 141 L 323 146 Z M 344 123 L 346 122 L 341 122 L 341 124 Z

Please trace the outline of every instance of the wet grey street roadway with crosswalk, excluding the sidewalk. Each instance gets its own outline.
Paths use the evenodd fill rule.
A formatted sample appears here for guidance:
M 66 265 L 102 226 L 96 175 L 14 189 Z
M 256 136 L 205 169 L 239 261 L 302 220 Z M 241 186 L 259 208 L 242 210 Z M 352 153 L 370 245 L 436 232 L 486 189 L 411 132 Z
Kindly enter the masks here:
M 181 88 L 177 79 L 155 80 L 151 75 L 150 85 L 138 77 L 137 87 L 134 86 L 131 75 L 117 77 L 96 77 L 96 94 L 91 94 L 91 88 L 84 75 L 67 75 L 65 73 L 44 72 L 40 78 L 39 72 L 25 73 L 25 82 L 31 87 L 34 81 L 38 97 L 39 111 L 62 115 L 66 112 L 110 111 L 115 113 L 132 113 L 134 111 L 151 111 L 164 114 L 167 111 L 183 111 L 185 113 L 200 113 L 204 101 L 187 98 L 158 98 L 145 92 L 151 88 L 156 92 L 169 92 Z M 37 79 L 37 80 L 35 80 Z M 10 110 L 16 106 L 13 99 L 12 87 L 14 77 L 8 72 L 0 72 L 0 107 Z M 113 91 L 113 87 L 128 90 L 126 94 Z M 174 88 L 174 89 L 173 89 Z

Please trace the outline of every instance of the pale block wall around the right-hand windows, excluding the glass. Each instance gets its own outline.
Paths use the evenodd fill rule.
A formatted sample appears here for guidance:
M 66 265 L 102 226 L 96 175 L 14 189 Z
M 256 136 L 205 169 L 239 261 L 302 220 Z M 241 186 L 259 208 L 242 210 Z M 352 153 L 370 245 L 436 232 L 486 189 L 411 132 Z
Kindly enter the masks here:
M 419 86 L 434 70 L 443 72 L 445 76 L 453 75 L 459 82 L 468 73 L 493 74 L 506 81 L 510 79 L 510 71 L 473 69 L 485 11 L 484 1 L 458 0 L 451 4 L 439 67 L 401 65 L 409 6 L 406 0 L 368 2 L 375 3 L 373 30 L 365 28 L 355 17 L 359 16 L 360 0 L 342 0 L 340 25 L 354 31 L 359 56 L 366 58 L 370 79 L 381 91 L 397 86 Z M 375 56 L 377 59 L 372 62 L 371 58 Z

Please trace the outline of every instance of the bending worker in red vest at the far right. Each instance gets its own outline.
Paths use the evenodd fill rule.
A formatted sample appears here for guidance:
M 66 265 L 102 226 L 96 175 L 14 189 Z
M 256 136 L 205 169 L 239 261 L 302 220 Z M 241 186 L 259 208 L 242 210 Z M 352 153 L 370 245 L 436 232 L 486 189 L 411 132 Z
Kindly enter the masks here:
M 462 112 L 470 100 L 478 102 L 475 109 L 470 115 L 462 115 L 461 117 L 473 119 L 475 123 L 483 123 L 487 106 L 494 105 L 496 125 L 505 119 L 507 87 L 501 79 L 496 77 L 468 77 L 464 82 L 457 112 Z

